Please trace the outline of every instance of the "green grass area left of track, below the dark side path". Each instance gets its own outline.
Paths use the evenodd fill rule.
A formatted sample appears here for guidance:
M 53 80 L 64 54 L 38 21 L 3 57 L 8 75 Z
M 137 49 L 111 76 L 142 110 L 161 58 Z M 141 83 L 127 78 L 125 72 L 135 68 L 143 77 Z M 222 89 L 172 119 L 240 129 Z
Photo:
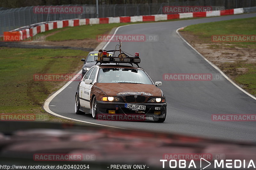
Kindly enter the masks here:
M 0 54 L 0 112 L 36 113 L 37 120 L 56 120 L 42 105 L 65 82 L 34 81 L 33 74 L 73 73 L 88 52 L 1 47 Z

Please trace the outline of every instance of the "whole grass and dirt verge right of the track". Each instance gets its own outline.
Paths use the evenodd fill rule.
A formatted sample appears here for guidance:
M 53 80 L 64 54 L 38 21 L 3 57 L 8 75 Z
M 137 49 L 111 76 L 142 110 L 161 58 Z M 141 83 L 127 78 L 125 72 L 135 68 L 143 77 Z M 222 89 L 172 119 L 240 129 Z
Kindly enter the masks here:
M 256 96 L 256 41 L 212 42 L 212 35 L 255 35 L 255 22 L 256 17 L 196 24 L 180 30 L 180 34 L 233 81 Z M 212 52 L 205 52 L 200 46 Z M 212 55 L 214 52 L 216 55 Z

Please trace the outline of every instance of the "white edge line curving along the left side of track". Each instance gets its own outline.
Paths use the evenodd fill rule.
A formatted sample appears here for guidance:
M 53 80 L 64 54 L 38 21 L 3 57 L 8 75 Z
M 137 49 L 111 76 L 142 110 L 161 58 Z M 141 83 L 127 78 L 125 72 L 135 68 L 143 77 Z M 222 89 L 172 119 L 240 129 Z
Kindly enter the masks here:
M 116 35 L 116 32 L 118 31 L 119 28 L 125 27 L 125 26 L 130 26 L 130 25 L 135 25 L 135 24 L 128 24 L 128 25 L 122 25 L 122 26 L 117 27 L 112 36 Z M 108 42 L 102 47 L 102 49 L 105 49 L 105 48 L 108 46 L 108 44 L 110 43 L 110 41 L 111 41 L 111 39 L 108 40 Z M 82 73 L 82 70 L 80 70 L 80 71 L 76 74 L 76 76 L 78 76 L 78 75 L 81 74 L 81 73 Z M 69 119 L 69 120 L 74 120 L 74 121 L 78 121 L 78 122 L 82 122 L 82 123 L 88 123 L 88 124 L 92 124 L 92 125 L 105 126 L 105 127 L 109 127 L 109 128 L 128 129 L 128 128 L 120 128 L 120 127 L 115 127 L 115 126 L 102 125 L 102 124 L 98 124 L 98 123 L 92 123 L 92 122 L 87 122 L 87 121 L 83 121 L 83 120 L 68 118 L 68 117 L 66 117 L 66 116 L 62 116 L 62 115 L 60 115 L 60 114 L 57 114 L 57 113 L 52 112 L 52 111 L 50 110 L 50 108 L 49 108 L 49 104 L 50 104 L 50 102 L 52 101 L 52 99 L 53 99 L 54 97 L 56 97 L 62 90 L 64 90 L 66 87 L 68 87 L 68 85 L 71 84 L 73 81 L 74 81 L 74 80 L 68 81 L 63 87 L 61 87 L 61 88 L 60 88 L 58 91 L 56 91 L 52 96 L 48 97 L 48 98 L 45 100 L 43 108 L 44 108 L 44 110 L 45 110 L 46 112 L 48 112 L 48 113 L 50 113 L 50 114 L 52 114 L 52 115 L 54 115 L 54 116 L 60 117 L 60 118 Z M 131 130 L 131 129 L 129 129 L 129 130 Z

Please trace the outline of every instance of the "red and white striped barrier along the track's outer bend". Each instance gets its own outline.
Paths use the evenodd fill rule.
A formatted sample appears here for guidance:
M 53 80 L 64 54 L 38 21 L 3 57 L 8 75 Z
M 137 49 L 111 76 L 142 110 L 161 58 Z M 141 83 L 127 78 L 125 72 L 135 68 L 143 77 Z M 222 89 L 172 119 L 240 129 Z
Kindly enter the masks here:
M 236 8 L 222 11 L 208 11 L 208 12 L 188 12 L 179 14 L 157 14 L 157 15 L 141 15 L 132 17 L 107 17 L 107 18 L 89 18 L 89 19 L 69 19 L 51 22 L 42 22 L 24 27 L 24 29 L 17 28 L 12 31 L 4 32 L 4 41 L 22 41 L 35 36 L 38 33 L 48 30 L 64 27 L 76 27 L 88 24 L 111 24 L 111 23 L 125 23 L 125 22 L 146 22 L 146 21 L 160 21 L 170 19 L 182 18 L 198 18 L 198 17 L 215 17 L 222 15 L 233 15 L 244 13 L 243 8 Z

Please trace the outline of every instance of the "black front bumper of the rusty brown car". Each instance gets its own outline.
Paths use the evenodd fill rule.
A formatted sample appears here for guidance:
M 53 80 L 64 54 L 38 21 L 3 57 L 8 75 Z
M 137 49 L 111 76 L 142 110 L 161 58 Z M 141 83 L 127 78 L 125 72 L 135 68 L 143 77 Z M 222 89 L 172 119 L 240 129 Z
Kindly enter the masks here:
M 139 104 L 139 105 L 145 105 L 146 110 L 139 110 L 141 112 L 138 112 L 136 110 L 128 109 L 124 107 L 123 102 L 103 102 L 103 101 L 97 101 L 97 110 L 98 115 L 105 115 L 105 116 L 115 116 L 115 115 L 126 115 L 126 116 L 139 116 L 139 117 L 157 117 L 157 118 L 164 118 L 166 115 L 166 103 L 131 103 L 131 104 Z M 108 113 L 108 111 L 115 110 L 116 113 Z M 158 114 L 155 113 L 155 111 L 158 112 Z M 159 112 L 161 112 L 159 114 Z

